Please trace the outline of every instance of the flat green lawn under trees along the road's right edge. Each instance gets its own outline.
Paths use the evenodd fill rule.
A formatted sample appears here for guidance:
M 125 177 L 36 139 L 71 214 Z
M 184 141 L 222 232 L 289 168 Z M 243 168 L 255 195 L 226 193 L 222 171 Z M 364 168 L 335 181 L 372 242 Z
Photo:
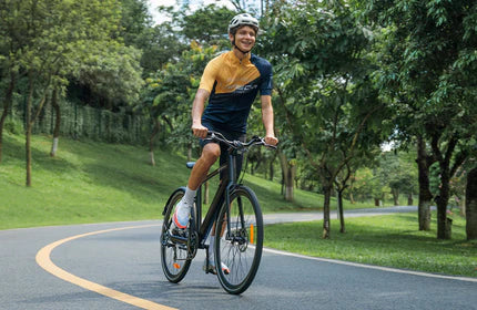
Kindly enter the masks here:
M 345 219 L 345 234 L 332 220 L 327 240 L 321 238 L 323 221 L 271 225 L 265 227 L 264 242 L 314 257 L 477 277 L 477 242 L 466 241 L 464 218 L 453 219 L 451 240 L 436 239 L 435 220 L 430 231 L 419 231 L 416 214 L 397 214 Z

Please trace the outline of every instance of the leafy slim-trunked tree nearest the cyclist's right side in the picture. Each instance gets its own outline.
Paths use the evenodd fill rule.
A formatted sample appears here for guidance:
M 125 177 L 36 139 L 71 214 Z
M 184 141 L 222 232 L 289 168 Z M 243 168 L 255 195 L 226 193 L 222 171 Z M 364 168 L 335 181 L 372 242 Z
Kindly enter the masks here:
M 367 79 L 368 39 L 341 1 L 285 7 L 267 25 L 278 105 L 324 189 L 323 237 L 329 237 L 333 183 L 355 151 L 376 144 L 385 110 Z M 280 112 L 280 111 L 278 111 Z M 367 134 L 365 135 L 364 132 Z

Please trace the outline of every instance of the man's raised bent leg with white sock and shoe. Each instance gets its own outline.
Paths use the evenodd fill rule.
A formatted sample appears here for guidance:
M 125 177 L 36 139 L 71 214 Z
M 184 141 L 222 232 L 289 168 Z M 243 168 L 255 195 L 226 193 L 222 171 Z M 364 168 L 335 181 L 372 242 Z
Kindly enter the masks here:
M 195 165 L 192 168 L 187 187 L 185 188 L 185 195 L 181 202 L 179 202 L 177 208 L 174 213 L 173 220 L 176 227 L 185 228 L 187 226 L 191 208 L 194 205 L 195 192 L 220 155 L 221 148 L 219 144 L 207 143 L 204 145 L 201 157 L 195 162 Z

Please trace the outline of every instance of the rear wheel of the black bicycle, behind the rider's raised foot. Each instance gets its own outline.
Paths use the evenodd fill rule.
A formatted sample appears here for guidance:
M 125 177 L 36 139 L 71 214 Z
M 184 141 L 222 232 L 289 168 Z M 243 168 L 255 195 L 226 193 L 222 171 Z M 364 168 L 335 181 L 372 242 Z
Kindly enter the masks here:
M 169 228 L 175 206 L 184 196 L 184 189 L 175 190 L 169 199 L 166 213 L 161 230 L 161 265 L 165 278 L 173 283 L 179 283 L 187 273 L 192 259 L 187 259 L 187 247 L 168 240 Z

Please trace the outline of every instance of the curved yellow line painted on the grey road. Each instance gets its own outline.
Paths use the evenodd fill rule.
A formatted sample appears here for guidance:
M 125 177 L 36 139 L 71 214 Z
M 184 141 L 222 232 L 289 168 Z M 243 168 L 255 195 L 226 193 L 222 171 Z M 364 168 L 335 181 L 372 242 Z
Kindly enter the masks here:
M 65 242 L 74 240 L 74 239 L 79 239 L 79 238 L 83 238 L 83 237 L 88 237 L 88 236 L 93 236 L 93 235 L 99 235 L 99 234 L 104 234 L 104 232 L 125 230 L 125 229 L 135 229 L 135 228 L 145 228 L 145 227 L 151 227 L 151 226 L 158 226 L 158 225 L 143 225 L 143 226 L 113 228 L 113 229 L 92 231 L 92 232 L 88 232 L 88 234 L 83 234 L 83 235 L 77 235 L 77 236 L 72 236 L 69 238 L 64 238 L 64 239 L 58 240 L 55 242 L 52 242 L 52 244 L 45 246 L 44 248 L 42 248 L 40 251 L 38 251 L 37 264 L 40 265 L 40 267 L 43 268 L 44 270 L 47 270 L 48 272 L 52 273 L 53 276 L 55 276 L 55 277 L 58 277 L 64 281 L 68 281 L 70 283 L 82 287 L 87 290 L 98 292 L 100 294 L 103 294 L 105 297 L 109 297 L 109 298 L 112 298 L 112 299 L 115 299 L 119 301 L 122 301 L 122 302 L 125 302 L 125 303 L 129 303 L 129 304 L 132 304 L 132 306 L 135 306 L 135 307 L 139 307 L 142 309 L 176 310 L 175 308 L 166 307 L 163 304 L 152 302 L 152 301 L 146 300 L 146 299 L 142 299 L 142 298 L 138 298 L 138 297 L 134 297 L 134 296 L 131 296 L 128 293 L 123 293 L 123 292 L 103 287 L 101 285 L 91 282 L 87 279 L 77 277 L 77 276 L 61 269 L 60 267 L 54 265 L 50 259 L 51 251 L 55 247 L 61 246 Z

